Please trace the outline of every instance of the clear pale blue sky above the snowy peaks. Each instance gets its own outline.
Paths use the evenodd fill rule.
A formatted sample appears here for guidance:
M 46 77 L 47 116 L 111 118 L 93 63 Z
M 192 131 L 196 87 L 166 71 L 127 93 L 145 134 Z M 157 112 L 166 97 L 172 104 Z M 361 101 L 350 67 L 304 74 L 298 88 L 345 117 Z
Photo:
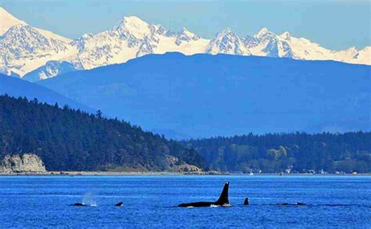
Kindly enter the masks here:
M 267 27 L 332 50 L 371 46 L 371 0 L 0 0 L 0 6 L 32 26 L 73 39 L 111 29 L 122 17 L 134 15 L 209 39 L 226 27 L 241 36 Z

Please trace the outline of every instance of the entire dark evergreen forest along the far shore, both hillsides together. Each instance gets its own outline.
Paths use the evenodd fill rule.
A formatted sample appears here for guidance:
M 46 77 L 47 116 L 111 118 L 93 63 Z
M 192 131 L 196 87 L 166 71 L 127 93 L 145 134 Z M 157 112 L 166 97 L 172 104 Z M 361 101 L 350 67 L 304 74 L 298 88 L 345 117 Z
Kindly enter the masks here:
M 180 142 L 118 119 L 0 96 L 0 159 L 35 153 L 47 170 L 121 168 L 162 171 L 166 155 L 229 172 L 371 172 L 371 132 L 252 133 Z

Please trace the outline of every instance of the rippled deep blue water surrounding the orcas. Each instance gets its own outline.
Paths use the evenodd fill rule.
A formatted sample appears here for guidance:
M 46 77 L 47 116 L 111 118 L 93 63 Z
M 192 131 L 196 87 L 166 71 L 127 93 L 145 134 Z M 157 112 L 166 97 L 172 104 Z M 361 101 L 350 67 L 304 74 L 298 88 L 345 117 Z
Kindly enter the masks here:
M 227 181 L 233 207 L 176 207 L 216 201 Z M 371 177 L 0 176 L 0 227 L 371 228 Z

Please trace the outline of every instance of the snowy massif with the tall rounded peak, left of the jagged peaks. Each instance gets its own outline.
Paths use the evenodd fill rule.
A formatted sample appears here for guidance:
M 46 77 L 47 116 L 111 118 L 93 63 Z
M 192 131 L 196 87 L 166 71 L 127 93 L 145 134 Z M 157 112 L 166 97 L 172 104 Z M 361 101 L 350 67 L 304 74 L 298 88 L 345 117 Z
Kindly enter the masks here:
M 83 69 L 124 63 L 150 53 L 177 51 L 184 54 L 203 53 L 209 40 L 183 28 L 172 32 L 161 25 L 148 24 L 138 17 L 124 17 L 111 30 L 85 34 L 70 44 L 78 53 L 67 60 Z

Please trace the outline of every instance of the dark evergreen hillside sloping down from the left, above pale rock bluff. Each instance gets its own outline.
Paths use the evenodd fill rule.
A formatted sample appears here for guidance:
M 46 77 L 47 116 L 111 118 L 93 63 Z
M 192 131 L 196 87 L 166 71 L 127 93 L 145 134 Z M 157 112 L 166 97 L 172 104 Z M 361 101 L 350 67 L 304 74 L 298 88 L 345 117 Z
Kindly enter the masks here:
M 166 155 L 204 167 L 204 160 L 164 136 L 140 126 L 107 119 L 98 110 L 81 110 L 39 103 L 37 99 L 0 96 L 0 158 L 33 152 L 47 170 L 104 170 L 129 167 L 164 170 Z

